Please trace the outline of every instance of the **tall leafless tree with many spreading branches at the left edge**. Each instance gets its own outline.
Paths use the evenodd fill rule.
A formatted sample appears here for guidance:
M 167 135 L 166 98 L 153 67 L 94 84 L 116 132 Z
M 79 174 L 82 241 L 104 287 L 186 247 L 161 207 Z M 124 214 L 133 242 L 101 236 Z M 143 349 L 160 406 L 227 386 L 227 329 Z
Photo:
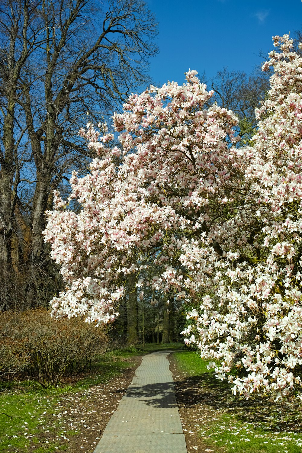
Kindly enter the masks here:
M 153 14 L 138 0 L 0 5 L 0 309 L 60 288 L 41 232 L 53 190 L 91 158 L 77 136 L 147 83 Z

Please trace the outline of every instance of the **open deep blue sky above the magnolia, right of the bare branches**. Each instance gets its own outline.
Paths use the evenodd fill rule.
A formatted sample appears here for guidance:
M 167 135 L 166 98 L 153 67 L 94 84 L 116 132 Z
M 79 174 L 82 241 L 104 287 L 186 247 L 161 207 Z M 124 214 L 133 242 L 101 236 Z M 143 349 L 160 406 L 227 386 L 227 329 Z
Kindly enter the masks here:
M 155 84 L 184 82 L 189 68 L 211 77 L 222 67 L 253 71 L 272 36 L 302 29 L 301 0 L 145 0 L 159 22 Z

